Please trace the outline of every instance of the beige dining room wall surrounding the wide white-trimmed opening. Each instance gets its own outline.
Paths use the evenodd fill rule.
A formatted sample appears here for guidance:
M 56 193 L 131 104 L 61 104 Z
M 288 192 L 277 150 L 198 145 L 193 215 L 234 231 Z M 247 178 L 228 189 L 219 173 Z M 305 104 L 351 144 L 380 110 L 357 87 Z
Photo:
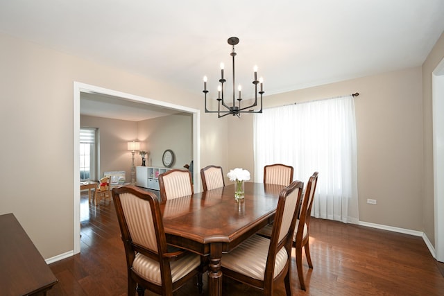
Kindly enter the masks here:
M 0 214 L 14 213 L 48 259 L 74 249 L 73 82 L 195 109 L 203 106 L 202 92 L 187 93 L 2 33 L 0 48 Z M 226 122 L 200 114 L 200 125 L 200 158 L 226 167 Z

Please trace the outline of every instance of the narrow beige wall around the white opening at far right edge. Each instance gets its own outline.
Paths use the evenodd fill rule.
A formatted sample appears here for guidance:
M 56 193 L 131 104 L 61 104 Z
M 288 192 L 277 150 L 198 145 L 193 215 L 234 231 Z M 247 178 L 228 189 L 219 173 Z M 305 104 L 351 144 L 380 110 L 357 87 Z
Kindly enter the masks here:
M 432 124 L 432 72 L 444 58 L 444 33 L 436 42 L 427 60 L 422 64 L 422 125 L 423 125 L 423 196 L 422 225 L 429 241 L 434 244 L 434 165 Z

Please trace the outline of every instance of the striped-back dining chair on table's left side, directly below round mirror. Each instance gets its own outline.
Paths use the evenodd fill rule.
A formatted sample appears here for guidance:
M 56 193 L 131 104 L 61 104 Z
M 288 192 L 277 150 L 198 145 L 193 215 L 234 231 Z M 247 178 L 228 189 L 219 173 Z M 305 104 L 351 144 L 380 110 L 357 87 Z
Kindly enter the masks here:
M 191 173 L 188 170 L 174 168 L 159 175 L 160 199 L 171 200 L 182 196 L 193 195 Z

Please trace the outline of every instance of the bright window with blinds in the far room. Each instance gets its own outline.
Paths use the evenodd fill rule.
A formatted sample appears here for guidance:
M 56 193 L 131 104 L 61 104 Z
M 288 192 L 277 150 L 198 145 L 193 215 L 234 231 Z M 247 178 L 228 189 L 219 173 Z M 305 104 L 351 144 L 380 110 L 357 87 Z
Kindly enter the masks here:
M 96 128 L 80 128 L 80 180 L 96 180 Z

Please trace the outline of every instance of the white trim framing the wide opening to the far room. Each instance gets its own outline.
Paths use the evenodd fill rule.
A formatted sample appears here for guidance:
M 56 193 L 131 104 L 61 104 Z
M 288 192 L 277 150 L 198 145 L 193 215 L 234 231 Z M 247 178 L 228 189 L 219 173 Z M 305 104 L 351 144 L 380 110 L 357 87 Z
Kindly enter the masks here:
M 93 93 L 103 94 L 107 96 L 114 96 L 126 101 L 133 101 L 136 103 L 142 103 L 146 105 L 153 105 L 157 107 L 163 107 L 170 110 L 178 110 L 180 112 L 186 112 L 192 114 L 193 121 L 193 159 L 194 166 L 200 167 L 200 110 L 175 105 L 163 101 L 153 100 L 151 98 L 144 98 L 142 96 L 135 96 L 133 94 L 126 94 L 118 92 L 112 89 L 105 89 L 103 87 L 97 87 L 94 85 L 87 85 L 81 82 L 74 82 L 74 254 L 80 252 L 80 94 L 81 93 Z M 198 170 L 194 170 L 194 191 L 200 188 L 200 177 L 196 173 Z

